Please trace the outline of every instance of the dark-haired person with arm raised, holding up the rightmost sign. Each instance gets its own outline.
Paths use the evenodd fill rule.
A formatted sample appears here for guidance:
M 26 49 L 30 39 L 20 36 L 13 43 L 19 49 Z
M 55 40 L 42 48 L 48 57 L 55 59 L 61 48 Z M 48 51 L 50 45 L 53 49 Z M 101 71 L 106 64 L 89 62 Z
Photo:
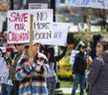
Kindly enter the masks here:
M 47 51 L 47 57 L 48 57 L 48 65 L 49 65 L 49 71 L 47 76 L 47 87 L 49 95 L 54 95 L 56 86 L 57 86 L 57 62 L 64 57 L 66 53 L 66 47 L 63 48 L 62 54 L 55 56 L 54 49 L 48 48 Z

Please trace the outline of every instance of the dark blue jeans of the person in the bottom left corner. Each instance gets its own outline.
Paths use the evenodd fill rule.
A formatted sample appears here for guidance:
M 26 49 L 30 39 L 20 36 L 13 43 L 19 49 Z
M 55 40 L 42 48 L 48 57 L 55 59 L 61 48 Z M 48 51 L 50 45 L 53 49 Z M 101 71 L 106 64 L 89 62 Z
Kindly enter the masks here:
M 2 84 L 2 95 L 11 95 L 12 93 L 12 86 L 7 84 Z

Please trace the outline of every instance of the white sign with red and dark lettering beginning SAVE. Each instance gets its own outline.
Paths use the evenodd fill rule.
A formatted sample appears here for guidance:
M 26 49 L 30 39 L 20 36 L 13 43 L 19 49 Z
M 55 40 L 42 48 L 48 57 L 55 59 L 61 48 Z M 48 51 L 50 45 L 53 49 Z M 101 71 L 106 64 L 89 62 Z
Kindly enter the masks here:
M 28 43 L 30 41 L 30 15 L 25 10 L 8 11 L 8 43 Z

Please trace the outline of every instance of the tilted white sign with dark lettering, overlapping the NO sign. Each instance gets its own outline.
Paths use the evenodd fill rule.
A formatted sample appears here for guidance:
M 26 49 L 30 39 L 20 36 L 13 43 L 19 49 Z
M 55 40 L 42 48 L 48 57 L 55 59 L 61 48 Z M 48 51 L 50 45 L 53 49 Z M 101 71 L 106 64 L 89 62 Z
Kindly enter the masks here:
M 49 31 L 35 32 L 34 42 L 44 45 L 66 45 L 69 24 L 49 23 Z

